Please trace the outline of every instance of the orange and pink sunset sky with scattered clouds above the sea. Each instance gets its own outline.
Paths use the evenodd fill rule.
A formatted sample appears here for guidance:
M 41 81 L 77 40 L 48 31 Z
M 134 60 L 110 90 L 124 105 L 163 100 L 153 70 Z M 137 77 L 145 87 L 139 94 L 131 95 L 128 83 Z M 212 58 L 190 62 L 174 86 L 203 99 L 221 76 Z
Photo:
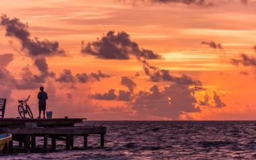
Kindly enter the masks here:
M 0 2 L 0 97 L 38 116 L 255 120 L 254 0 Z

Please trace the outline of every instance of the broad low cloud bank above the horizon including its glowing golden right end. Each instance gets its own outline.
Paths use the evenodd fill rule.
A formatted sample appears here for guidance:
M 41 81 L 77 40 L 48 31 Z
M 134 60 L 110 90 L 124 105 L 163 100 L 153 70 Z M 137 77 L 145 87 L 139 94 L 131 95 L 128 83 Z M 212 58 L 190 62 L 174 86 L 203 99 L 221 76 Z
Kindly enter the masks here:
M 203 91 L 203 92 L 201 92 Z M 220 95 L 216 91 L 206 91 L 203 88 L 189 87 L 189 85 L 173 84 L 160 89 L 154 85 L 148 91 L 139 91 L 131 103 L 139 117 L 159 117 L 172 120 L 180 120 L 182 116 L 189 119 L 189 113 L 201 112 L 200 106 L 210 108 L 223 108 Z M 205 94 L 203 102 L 200 102 L 198 94 Z M 211 93 L 211 94 L 210 94 Z

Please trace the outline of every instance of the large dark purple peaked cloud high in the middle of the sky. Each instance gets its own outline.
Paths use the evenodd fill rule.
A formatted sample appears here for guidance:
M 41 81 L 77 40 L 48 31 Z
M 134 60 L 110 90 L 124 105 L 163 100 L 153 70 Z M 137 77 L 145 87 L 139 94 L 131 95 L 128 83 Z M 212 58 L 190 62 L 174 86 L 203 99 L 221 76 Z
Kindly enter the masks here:
M 82 42 L 82 53 L 91 54 L 102 59 L 120 59 L 130 58 L 158 59 L 160 55 L 152 50 L 139 48 L 136 42 L 130 40 L 129 34 L 125 32 L 109 31 L 106 36 L 95 42 L 89 42 L 84 46 Z

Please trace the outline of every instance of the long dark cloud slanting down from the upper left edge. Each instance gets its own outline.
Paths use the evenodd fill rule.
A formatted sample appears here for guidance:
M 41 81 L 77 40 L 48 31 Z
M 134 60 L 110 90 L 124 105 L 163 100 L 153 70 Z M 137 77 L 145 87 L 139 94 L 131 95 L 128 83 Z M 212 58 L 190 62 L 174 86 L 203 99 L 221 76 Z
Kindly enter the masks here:
M 22 50 L 27 50 L 29 56 L 55 56 L 65 55 L 64 50 L 59 48 L 58 42 L 30 38 L 28 24 L 20 22 L 20 19 L 10 19 L 7 15 L 1 16 L 1 26 L 5 26 L 5 36 L 17 38 L 22 44 Z

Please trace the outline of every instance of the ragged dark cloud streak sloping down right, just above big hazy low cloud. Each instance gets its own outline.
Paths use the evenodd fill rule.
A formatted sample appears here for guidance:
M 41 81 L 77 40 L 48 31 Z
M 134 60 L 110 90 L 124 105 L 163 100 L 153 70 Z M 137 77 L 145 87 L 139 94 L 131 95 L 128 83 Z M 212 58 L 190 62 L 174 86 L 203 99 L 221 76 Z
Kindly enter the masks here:
M 193 80 L 188 75 L 182 75 L 181 77 L 176 77 L 174 75 L 170 75 L 170 72 L 165 69 L 160 69 L 159 67 L 154 67 L 147 63 L 143 62 L 143 70 L 150 77 L 151 81 L 159 82 L 159 81 L 170 81 L 173 83 L 177 83 L 180 85 L 201 85 L 201 81 Z

